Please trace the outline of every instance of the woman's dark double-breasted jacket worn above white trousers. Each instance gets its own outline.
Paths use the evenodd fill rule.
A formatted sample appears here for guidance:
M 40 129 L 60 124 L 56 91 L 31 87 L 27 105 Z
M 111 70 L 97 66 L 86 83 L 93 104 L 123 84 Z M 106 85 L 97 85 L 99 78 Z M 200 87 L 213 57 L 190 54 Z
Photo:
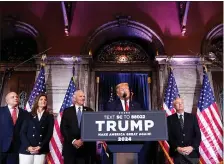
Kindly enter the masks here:
M 29 117 L 23 122 L 20 138 L 21 146 L 19 153 L 30 154 L 27 152 L 29 146 L 40 146 L 38 154 L 49 152 L 49 142 L 53 134 L 54 116 L 44 111 L 40 121 L 38 116 L 29 113 Z

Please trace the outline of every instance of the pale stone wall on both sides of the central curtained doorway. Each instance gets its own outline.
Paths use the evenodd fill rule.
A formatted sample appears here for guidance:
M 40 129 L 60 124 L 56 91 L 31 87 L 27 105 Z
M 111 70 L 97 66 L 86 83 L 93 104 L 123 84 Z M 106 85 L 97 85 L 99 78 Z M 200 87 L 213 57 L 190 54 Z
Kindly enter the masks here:
M 157 68 L 152 69 L 152 109 L 161 109 L 164 89 L 167 85 L 168 69 L 166 56 L 157 56 Z M 90 60 L 82 58 L 75 64 L 75 81 L 77 88 L 86 94 L 86 104 L 96 109 L 96 77 L 95 71 L 90 68 Z M 209 63 L 207 63 L 209 64 Z M 180 96 L 184 98 L 185 110 L 191 113 L 197 108 L 197 101 L 202 85 L 202 63 L 198 57 L 175 56 L 170 66 L 173 68 L 174 77 Z M 72 77 L 73 63 L 71 57 L 50 58 L 46 65 L 46 84 L 49 97 L 49 107 L 58 113 L 63 102 L 69 81 Z M 39 71 L 39 70 L 38 70 Z M 99 70 L 98 70 L 99 71 Z M 37 72 L 38 73 L 38 72 Z M 208 75 L 213 88 L 211 71 Z

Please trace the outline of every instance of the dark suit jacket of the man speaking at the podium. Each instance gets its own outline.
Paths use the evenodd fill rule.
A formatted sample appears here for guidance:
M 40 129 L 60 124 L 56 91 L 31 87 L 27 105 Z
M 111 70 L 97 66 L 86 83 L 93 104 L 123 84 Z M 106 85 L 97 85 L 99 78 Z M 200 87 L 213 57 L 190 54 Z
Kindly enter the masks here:
M 140 111 L 143 110 L 139 103 L 136 101 L 129 101 L 129 111 Z M 106 109 L 104 111 L 124 111 L 121 100 L 114 100 L 106 105 Z

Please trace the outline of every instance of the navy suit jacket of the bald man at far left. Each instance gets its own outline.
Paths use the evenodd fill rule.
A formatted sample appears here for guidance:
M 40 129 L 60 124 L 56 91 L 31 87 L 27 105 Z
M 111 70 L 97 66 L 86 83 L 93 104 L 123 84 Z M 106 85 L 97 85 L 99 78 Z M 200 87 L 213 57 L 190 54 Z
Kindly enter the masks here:
M 13 125 L 11 113 L 8 106 L 0 107 L 0 152 L 18 153 L 20 147 L 20 129 L 28 112 L 19 108 L 16 124 Z

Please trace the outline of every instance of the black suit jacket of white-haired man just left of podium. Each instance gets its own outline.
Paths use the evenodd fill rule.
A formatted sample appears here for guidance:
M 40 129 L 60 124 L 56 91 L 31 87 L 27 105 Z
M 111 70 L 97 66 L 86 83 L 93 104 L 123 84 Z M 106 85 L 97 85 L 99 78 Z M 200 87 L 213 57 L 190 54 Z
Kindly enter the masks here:
M 82 112 L 93 112 L 93 109 L 88 107 L 83 107 Z M 61 119 L 61 133 L 64 137 L 63 143 L 63 155 L 65 153 L 74 154 L 75 156 L 92 156 L 96 155 L 96 143 L 95 142 L 85 142 L 82 147 L 75 148 L 72 144 L 74 139 L 78 140 L 81 138 L 81 126 L 78 125 L 78 118 L 76 114 L 75 106 L 69 107 L 64 110 Z

